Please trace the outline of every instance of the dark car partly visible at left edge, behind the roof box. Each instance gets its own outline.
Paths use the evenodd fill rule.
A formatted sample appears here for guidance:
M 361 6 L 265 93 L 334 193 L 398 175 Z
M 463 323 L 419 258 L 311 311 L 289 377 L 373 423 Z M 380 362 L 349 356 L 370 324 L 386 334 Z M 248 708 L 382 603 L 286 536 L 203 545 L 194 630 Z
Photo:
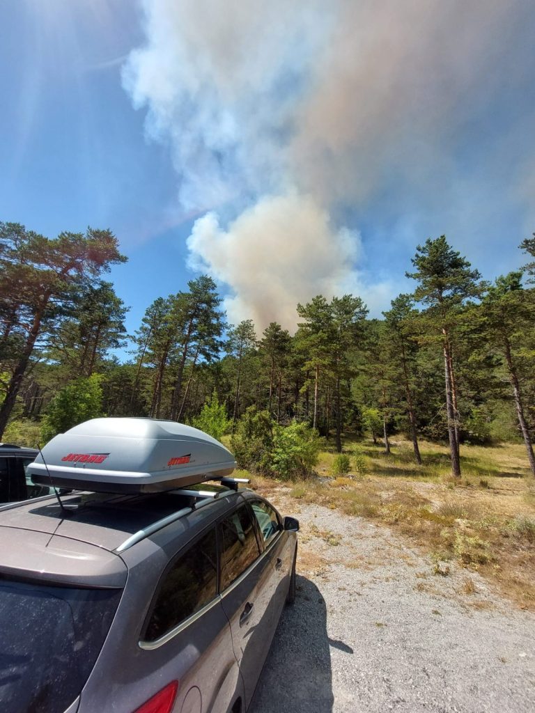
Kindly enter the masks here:
M 23 448 L 0 443 L 0 505 L 49 495 L 52 488 L 36 485 L 26 468 L 39 453 L 35 448 Z

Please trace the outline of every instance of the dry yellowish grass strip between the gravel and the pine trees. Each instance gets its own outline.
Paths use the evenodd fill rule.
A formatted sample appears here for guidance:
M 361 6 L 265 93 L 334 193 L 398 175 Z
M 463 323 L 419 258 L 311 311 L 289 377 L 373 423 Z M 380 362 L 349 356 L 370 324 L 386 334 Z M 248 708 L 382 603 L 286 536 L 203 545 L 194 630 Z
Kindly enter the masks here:
M 445 446 L 420 448 L 417 466 L 408 441 L 394 441 L 390 456 L 371 441 L 347 443 L 345 451 L 360 454 L 360 472 L 329 479 L 334 454 L 322 453 L 323 477 L 295 483 L 290 496 L 385 523 L 431 554 L 436 574 L 447 575 L 455 561 L 535 610 L 535 483 L 523 446 L 462 446 L 461 481 L 451 478 Z M 254 481 L 266 494 L 280 488 Z M 469 582 L 464 591 L 472 594 Z

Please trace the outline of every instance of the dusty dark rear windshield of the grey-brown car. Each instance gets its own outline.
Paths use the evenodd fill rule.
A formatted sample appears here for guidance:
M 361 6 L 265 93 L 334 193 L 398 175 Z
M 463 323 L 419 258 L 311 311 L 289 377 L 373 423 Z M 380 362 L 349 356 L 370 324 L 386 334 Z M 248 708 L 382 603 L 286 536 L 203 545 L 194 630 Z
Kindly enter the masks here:
M 0 580 L 0 711 L 63 713 L 95 664 L 121 591 Z

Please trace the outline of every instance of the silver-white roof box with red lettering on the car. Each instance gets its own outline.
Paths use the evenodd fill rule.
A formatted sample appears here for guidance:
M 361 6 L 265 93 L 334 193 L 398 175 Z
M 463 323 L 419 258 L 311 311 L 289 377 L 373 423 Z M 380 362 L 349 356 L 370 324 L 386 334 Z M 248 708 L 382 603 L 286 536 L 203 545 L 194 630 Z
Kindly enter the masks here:
M 228 476 L 230 451 L 175 421 L 93 419 L 52 438 L 28 466 L 34 483 L 97 493 L 156 493 Z

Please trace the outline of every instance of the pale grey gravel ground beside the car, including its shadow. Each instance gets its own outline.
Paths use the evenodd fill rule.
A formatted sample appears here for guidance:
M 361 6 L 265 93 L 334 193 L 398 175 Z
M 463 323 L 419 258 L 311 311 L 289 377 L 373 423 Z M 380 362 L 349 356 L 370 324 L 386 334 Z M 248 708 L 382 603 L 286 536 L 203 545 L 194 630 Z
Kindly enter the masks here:
M 535 711 L 535 615 L 381 525 L 270 498 L 300 518 L 297 599 L 252 713 Z

